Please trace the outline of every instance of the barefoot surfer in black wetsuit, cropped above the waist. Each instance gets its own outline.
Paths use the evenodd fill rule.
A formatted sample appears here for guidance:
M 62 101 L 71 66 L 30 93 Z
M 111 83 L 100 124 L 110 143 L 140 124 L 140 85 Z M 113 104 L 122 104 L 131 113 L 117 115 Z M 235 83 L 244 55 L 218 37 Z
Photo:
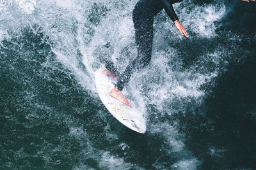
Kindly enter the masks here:
M 111 90 L 110 96 L 115 97 L 121 103 L 131 106 L 131 103 L 124 97 L 122 90 L 130 80 L 132 73 L 148 65 L 151 59 L 152 41 L 153 41 L 153 22 L 154 16 L 161 10 L 165 10 L 172 19 L 177 29 L 183 36 L 188 38 L 186 29 L 180 24 L 179 19 L 173 10 L 173 3 L 179 3 L 182 0 L 140 0 L 132 12 L 132 20 L 135 29 L 135 40 L 138 50 L 138 57 L 129 62 L 121 76 L 117 76 L 115 70 L 109 69 L 107 64 L 103 73 L 115 78 L 116 86 Z

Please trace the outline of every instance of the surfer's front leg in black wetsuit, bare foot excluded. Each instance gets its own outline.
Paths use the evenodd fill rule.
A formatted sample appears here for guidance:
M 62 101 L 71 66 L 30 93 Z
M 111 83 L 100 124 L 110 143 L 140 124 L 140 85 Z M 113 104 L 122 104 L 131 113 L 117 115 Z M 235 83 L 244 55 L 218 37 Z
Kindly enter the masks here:
M 138 56 L 129 62 L 124 73 L 120 76 L 116 84 L 118 90 L 123 90 L 134 71 L 147 66 L 151 59 L 154 16 L 148 8 L 145 8 L 143 2 L 143 0 L 139 1 L 132 13 Z

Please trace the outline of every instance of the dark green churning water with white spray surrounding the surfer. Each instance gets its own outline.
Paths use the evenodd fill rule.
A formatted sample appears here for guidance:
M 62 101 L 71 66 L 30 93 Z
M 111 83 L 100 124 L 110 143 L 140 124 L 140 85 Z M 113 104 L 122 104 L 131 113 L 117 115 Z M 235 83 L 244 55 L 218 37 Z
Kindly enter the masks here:
M 0 169 L 256 169 L 256 4 L 174 4 L 125 87 L 147 119 L 112 117 L 93 72 L 136 57 L 137 1 L 0 1 Z

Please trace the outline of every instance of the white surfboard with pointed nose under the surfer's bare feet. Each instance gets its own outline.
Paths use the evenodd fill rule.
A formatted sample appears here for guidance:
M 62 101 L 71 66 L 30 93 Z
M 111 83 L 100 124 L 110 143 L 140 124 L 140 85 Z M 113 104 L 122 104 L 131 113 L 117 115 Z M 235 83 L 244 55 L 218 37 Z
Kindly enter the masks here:
M 146 132 L 146 121 L 141 114 L 140 110 L 136 108 L 135 104 L 130 101 L 132 106 L 126 106 L 120 103 L 120 101 L 109 96 L 109 92 L 115 87 L 115 80 L 111 80 L 109 76 L 102 73 L 104 67 L 95 72 L 95 84 L 100 96 L 100 99 L 107 110 L 113 115 L 119 122 L 124 124 L 129 129 L 139 133 Z

